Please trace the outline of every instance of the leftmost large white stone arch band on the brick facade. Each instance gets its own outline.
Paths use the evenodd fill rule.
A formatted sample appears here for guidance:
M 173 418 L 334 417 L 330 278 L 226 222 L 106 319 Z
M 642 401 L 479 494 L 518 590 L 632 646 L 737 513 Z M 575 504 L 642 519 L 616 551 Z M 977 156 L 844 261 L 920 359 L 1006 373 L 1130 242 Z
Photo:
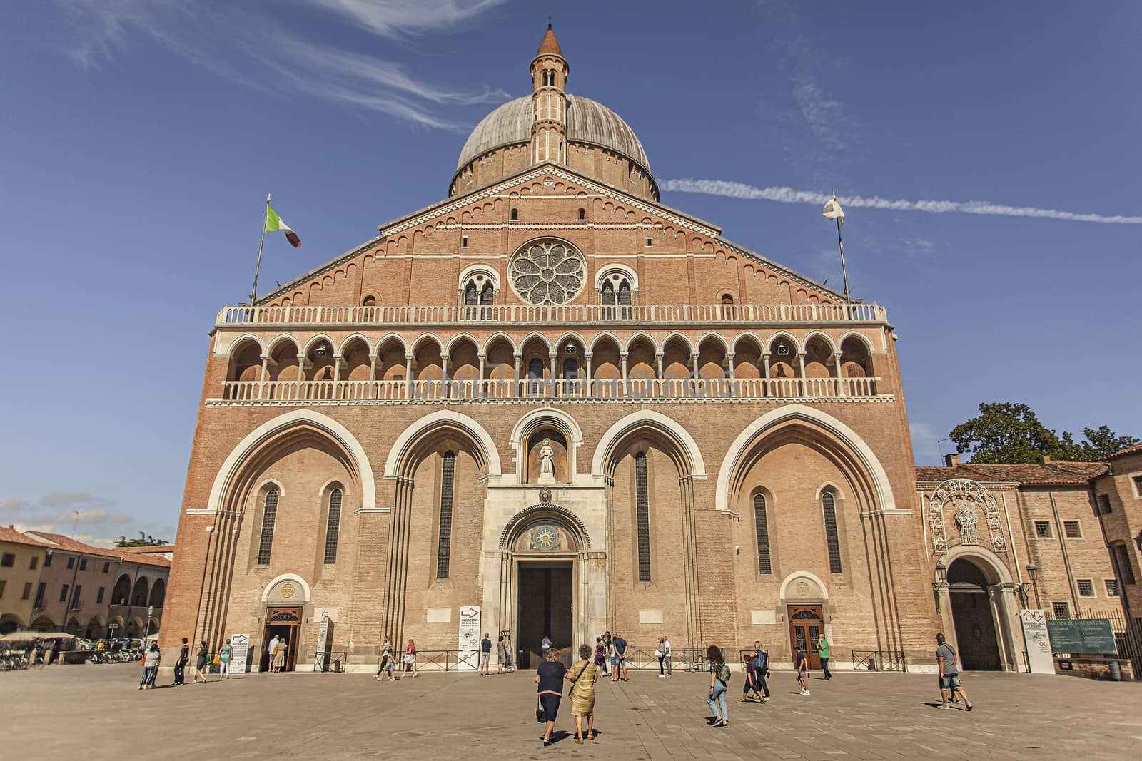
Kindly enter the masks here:
M 313 410 L 293 410 L 266 421 L 250 431 L 246 438 L 239 442 L 238 446 L 231 450 L 222 468 L 219 468 L 218 475 L 215 477 L 214 485 L 210 487 L 207 509 L 214 511 L 224 509 L 224 496 L 233 489 L 240 476 L 241 467 L 258 450 L 274 439 L 289 435 L 293 429 L 315 432 L 331 439 L 340 447 L 348 455 L 348 460 L 353 465 L 351 473 L 356 476 L 361 481 L 361 507 L 372 508 L 376 505 L 377 493 L 372 477 L 372 465 L 369 463 L 369 455 L 365 454 L 364 447 L 361 446 L 356 437 L 345 426 L 329 415 L 323 415 Z

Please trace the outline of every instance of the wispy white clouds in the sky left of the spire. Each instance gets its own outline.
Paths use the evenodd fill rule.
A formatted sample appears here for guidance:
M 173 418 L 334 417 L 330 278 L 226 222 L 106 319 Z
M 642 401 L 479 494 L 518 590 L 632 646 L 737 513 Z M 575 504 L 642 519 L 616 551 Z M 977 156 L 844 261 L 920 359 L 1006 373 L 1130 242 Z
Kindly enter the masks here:
M 308 30 L 241 5 L 210 7 L 187 0 L 56 0 L 75 42 L 69 50 L 83 68 L 98 70 L 126 55 L 136 38 L 158 42 L 195 66 L 243 87 L 282 97 L 304 95 L 388 114 L 423 127 L 463 129 L 442 107 L 502 100 L 501 90 L 441 88 L 408 66 L 308 41 Z M 291 0 L 333 23 L 384 38 L 443 30 L 502 0 Z M 391 47 L 391 46 L 389 46 Z

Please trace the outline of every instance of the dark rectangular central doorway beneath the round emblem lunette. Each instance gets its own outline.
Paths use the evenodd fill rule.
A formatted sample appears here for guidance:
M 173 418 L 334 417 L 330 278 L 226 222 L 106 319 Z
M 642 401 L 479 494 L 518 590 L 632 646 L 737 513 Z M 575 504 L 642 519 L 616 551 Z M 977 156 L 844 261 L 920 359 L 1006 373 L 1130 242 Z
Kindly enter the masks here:
M 560 659 L 571 667 L 571 604 L 574 594 L 570 561 L 524 561 L 518 564 L 516 586 L 516 666 L 538 669 L 542 659 L 544 637 L 557 647 Z

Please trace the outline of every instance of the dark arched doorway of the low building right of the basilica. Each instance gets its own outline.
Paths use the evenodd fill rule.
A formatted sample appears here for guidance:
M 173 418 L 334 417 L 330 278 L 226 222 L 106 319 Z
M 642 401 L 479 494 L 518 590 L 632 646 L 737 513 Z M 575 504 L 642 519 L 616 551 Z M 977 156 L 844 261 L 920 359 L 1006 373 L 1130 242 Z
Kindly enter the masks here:
M 960 667 L 967 671 L 1000 671 L 996 614 L 983 570 L 966 558 L 957 558 L 948 568 L 948 596 Z

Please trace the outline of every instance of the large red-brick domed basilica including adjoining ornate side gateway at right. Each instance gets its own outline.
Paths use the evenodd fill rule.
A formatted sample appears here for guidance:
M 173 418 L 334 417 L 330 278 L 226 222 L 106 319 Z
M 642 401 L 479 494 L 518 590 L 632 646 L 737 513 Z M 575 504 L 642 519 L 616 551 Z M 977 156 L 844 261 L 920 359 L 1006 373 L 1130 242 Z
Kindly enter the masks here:
M 569 71 L 548 29 L 447 200 L 218 314 L 163 647 L 276 633 L 312 667 L 328 617 L 376 669 L 385 634 L 435 657 L 478 608 L 523 665 L 610 630 L 924 667 L 955 551 L 1018 667 L 1007 505 L 933 533 L 885 309 L 661 205 Z

